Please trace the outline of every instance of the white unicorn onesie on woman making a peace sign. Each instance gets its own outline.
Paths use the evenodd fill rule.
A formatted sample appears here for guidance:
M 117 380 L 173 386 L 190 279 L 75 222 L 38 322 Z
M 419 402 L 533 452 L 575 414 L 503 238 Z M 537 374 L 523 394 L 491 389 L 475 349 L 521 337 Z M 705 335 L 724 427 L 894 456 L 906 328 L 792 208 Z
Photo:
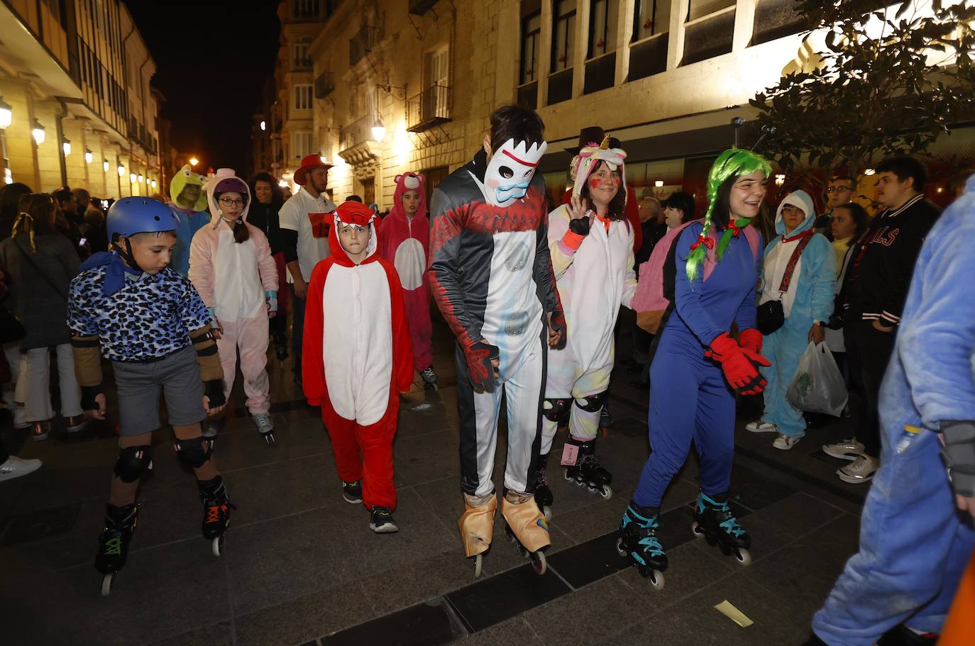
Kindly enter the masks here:
M 600 161 L 610 171 L 620 170 L 620 190 L 624 190 L 625 158 L 626 153 L 619 148 L 582 148 L 572 193 L 580 194 Z M 598 396 L 600 401 L 595 403 L 600 403 L 609 387 L 613 327 L 620 305 L 629 307 L 637 290 L 633 270 L 634 230 L 626 219 L 610 220 L 595 215 L 589 233 L 583 236 L 569 229 L 570 221 L 565 205 L 549 214 L 548 246 L 565 311 L 567 342 L 563 350 L 548 351 L 545 408 L 558 411 L 565 406 L 567 409 L 571 399 L 575 399 L 569 414 L 569 433 L 588 441 L 599 431 L 602 407 L 590 405 L 588 399 Z M 558 424 L 558 418 L 545 416 L 542 420 L 542 455 L 549 453 Z

